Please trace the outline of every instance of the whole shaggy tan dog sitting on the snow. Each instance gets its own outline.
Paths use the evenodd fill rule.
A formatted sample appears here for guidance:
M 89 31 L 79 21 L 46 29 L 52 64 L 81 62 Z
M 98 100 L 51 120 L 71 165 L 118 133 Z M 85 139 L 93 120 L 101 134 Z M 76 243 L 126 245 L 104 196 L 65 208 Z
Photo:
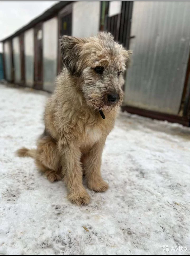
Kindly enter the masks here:
M 64 178 L 68 199 L 87 205 L 83 175 L 89 189 L 108 189 L 100 170 L 102 151 L 122 103 L 131 52 L 107 32 L 89 38 L 64 35 L 60 48 L 64 67 L 45 106 L 44 133 L 37 149 L 22 148 L 17 155 L 33 157 L 51 182 Z

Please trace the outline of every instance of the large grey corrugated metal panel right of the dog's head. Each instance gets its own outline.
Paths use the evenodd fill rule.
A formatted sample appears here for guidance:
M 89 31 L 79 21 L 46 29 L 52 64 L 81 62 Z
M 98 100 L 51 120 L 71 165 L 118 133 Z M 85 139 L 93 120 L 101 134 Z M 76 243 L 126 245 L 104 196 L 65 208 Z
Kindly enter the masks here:
M 134 1 L 125 104 L 178 114 L 190 42 L 189 1 Z

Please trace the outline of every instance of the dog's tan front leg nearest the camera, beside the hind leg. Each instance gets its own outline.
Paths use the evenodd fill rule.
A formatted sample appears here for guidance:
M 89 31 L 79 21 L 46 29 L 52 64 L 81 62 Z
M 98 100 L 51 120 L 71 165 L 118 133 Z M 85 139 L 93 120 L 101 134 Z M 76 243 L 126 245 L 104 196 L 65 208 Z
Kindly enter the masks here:
M 80 149 L 72 143 L 65 146 L 60 142 L 59 150 L 61 153 L 64 180 L 69 190 L 68 199 L 77 205 L 88 204 L 90 197 L 82 182 L 83 171 L 80 163 Z

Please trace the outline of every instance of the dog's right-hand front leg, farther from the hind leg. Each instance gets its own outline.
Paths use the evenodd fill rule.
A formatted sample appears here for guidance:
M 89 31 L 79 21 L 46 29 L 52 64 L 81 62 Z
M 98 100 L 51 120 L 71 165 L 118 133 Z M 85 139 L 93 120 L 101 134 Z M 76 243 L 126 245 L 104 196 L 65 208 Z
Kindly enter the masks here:
M 101 176 L 102 151 L 105 140 L 97 142 L 88 154 L 84 156 L 84 170 L 87 179 L 87 186 L 97 192 L 103 192 L 108 189 L 108 184 Z

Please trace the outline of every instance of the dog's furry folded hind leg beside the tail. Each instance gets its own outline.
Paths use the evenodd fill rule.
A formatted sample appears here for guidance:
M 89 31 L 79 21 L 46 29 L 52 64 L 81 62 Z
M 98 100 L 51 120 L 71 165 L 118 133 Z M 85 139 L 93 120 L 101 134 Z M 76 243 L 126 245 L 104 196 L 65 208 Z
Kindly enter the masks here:
M 44 136 L 37 142 L 36 165 L 49 181 L 62 179 L 57 143 L 49 136 Z

